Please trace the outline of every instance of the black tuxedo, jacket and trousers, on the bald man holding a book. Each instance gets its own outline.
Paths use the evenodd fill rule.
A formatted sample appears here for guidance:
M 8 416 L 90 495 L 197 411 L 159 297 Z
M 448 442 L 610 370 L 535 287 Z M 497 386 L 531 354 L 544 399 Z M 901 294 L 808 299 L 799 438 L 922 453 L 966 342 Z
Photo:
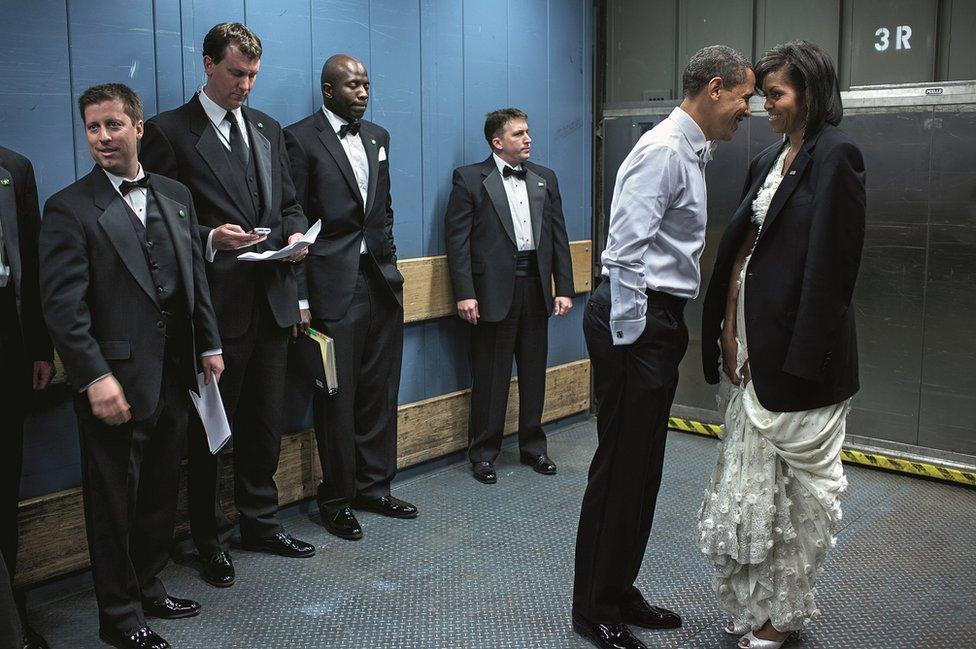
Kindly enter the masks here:
M 346 135 L 346 137 L 356 137 Z M 396 475 L 397 395 L 403 356 L 403 276 L 396 267 L 386 129 L 362 121 L 366 199 L 321 110 L 285 129 L 298 200 L 322 221 L 304 261 L 313 326 L 335 340 L 339 394 L 315 396 L 324 474 L 319 505 L 389 495 Z M 366 252 L 360 254 L 365 240 Z

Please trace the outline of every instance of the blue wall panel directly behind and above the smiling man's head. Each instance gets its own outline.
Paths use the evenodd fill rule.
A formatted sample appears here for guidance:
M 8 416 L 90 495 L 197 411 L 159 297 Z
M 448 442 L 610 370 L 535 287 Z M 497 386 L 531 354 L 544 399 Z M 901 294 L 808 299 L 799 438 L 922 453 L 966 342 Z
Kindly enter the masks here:
M 146 115 L 156 113 L 156 59 L 152 0 L 119 4 L 105 11 L 99 0 L 74 0 L 68 5 L 71 36 L 72 96 L 100 83 L 124 83 L 142 99 Z M 75 171 L 92 168 L 81 116 L 75 114 Z

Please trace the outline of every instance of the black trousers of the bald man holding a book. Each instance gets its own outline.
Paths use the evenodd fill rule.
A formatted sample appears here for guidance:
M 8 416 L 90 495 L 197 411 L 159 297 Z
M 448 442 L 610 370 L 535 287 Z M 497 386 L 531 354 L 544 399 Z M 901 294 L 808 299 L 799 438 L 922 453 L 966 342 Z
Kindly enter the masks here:
M 390 495 L 397 470 L 397 399 L 403 307 L 368 254 L 359 256 L 352 301 L 336 320 L 312 326 L 335 342 L 339 393 L 316 393 L 315 440 L 322 467 L 319 507 L 335 512 L 356 496 Z

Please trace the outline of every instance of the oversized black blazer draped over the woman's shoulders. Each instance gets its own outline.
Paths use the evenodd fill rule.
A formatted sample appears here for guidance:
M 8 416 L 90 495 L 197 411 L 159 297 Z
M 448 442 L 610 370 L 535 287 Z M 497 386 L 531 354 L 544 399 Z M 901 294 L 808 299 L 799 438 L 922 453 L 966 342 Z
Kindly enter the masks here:
M 752 201 L 783 150 L 749 165 L 742 201 L 719 244 L 702 315 L 705 380 L 717 383 L 729 273 L 749 228 Z M 749 367 L 760 403 L 796 412 L 858 390 L 851 302 L 864 244 L 864 159 L 844 131 L 808 138 L 766 214 L 745 283 Z

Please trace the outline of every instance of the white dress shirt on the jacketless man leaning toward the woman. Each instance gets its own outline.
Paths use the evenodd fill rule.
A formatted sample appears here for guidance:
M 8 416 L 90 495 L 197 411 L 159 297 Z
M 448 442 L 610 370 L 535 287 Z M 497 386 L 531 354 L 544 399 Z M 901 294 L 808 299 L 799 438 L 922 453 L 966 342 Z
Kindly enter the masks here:
M 641 136 L 617 171 L 603 275 L 610 278 L 615 345 L 644 331 L 646 289 L 698 295 L 708 216 L 705 163 L 711 146 L 680 107 Z

